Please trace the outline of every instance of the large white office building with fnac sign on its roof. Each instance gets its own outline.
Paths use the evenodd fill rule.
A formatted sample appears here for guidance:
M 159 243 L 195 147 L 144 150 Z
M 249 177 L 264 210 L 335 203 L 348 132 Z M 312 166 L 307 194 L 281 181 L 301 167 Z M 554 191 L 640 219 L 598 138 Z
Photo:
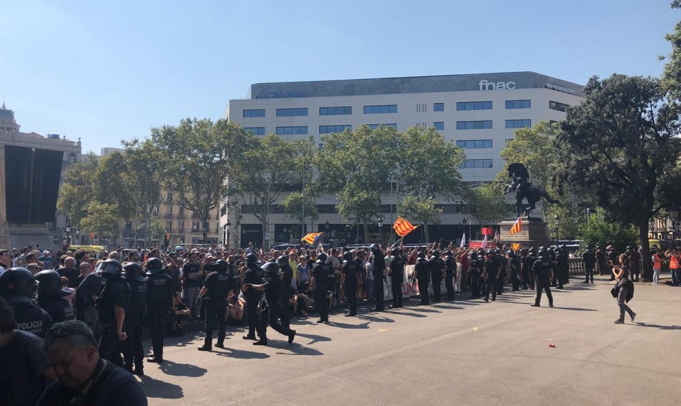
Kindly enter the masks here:
M 251 85 L 246 99 L 230 100 L 226 117 L 255 135 L 277 133 L 289 139 L 312 135 L 320 144 L 325 133 L 361 124 L 389 125 L 399 131 L 433 126 L 464 148 L 462 177 L 476 184 L 493 180 L 503 168 L 499 153 L 517 128 L 563 120 L 565 109 L 582 100 L 581 85 L 534 72 L 258 83 Z M 284 198 L 285 194 L 281 196 Z M 382 200 L 387 212 L 382 214 L 386 225 L 380 238 L 387 241 L 389 223 L 396 214 L 390 210 L 391 196 Z M 317 199 L 321 216 L 312 225 L 308 221 L 306 231 L 325 231 L 336 243 L 354 242 L 356 229 L 340 220 L 336 203 L 334 196 Z M 431 225 L 431 240 L 453 240 L 464 231 L 468 234 L 460 207 L 451 202 L 442 205 L 442 224 Z M 285 221 L 281 208 L 275 204 L 270 210 L 266 232 L 270 245 L 300 238 L 298 232 L 290 235 L 293 226 Z M 226 209 L 222 214 L 225 237 L 225 225 L 230 220 L 230 245 L 244 246 L 248 241 L 259 245 L 263 240 L 260 223 L 248 210 L 238 219 L 228 216 Z M 378 237 L 378 227 L 374 232 Z

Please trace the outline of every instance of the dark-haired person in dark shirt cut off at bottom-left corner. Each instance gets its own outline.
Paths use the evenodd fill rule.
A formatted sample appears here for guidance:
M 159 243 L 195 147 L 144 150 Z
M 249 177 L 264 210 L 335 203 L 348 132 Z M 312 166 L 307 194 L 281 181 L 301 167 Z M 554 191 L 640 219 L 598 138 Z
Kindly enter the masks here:
M 0 298 L 0 405 L 35 405 L 55 379 L 42 347 L 38 336 L 17 330 L 12 307 Z

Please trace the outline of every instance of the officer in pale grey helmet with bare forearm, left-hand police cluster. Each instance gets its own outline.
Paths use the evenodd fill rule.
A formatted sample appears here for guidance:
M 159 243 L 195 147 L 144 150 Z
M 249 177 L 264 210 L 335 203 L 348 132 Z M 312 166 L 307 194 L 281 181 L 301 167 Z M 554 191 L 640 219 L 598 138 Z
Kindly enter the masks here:
M 97 297 L 99 356 L 123 368 L 120 343 L 127 338 L 123 324 L 125 323 L 125 309 L 130 302 L 130 288 L 120 278 L 121 271 L 120 262 L 105 260 L 98 264 L 95 272 L 103 278 L 102 290 Z

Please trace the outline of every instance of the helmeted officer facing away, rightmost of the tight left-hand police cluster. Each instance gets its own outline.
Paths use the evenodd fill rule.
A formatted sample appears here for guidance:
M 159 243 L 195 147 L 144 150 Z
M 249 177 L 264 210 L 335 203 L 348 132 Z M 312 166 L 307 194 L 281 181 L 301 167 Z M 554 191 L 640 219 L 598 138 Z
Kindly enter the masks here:
M 163 362 L 163 336 L 166 320 L 175 308 L 175 286 L 173 278 L 163 271 L 163 262 L 149 258 L 144 264 L 147 269 L 147 328 L 151 335 L 153 356 L 147 362 Z

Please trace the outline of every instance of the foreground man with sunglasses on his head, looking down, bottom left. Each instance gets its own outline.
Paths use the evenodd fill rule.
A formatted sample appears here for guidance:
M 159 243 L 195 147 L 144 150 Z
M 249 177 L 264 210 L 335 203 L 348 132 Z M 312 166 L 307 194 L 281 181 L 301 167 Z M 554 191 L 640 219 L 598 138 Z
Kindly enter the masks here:
M 58 381 L 47 385 L 36 405 L 147 405 L 147 395 L 130 372 L 100 359 L 87 324 L 54 324 L 43 348 Z

